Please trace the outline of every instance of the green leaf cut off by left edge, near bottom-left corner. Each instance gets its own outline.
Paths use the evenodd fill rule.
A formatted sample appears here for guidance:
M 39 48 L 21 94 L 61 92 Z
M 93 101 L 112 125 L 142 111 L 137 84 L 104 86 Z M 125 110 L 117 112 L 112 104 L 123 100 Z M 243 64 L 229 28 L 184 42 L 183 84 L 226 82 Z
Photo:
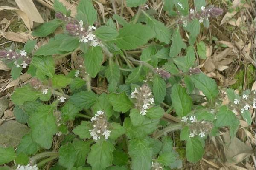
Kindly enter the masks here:
M 16 158 L 13 147 L 1 147 L 0 146 L 0 165 L 7 164 Z

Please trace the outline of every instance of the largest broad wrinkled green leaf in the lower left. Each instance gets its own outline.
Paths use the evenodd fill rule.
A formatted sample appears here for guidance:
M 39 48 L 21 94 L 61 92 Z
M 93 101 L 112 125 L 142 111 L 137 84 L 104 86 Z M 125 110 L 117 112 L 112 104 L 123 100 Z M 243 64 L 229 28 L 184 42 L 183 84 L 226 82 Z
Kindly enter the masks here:
M 58 132 L 53 108 L 42 105 L 29 117 L 29 127 L 32 140 L 45 149 L 52 147 L 52 135 Z

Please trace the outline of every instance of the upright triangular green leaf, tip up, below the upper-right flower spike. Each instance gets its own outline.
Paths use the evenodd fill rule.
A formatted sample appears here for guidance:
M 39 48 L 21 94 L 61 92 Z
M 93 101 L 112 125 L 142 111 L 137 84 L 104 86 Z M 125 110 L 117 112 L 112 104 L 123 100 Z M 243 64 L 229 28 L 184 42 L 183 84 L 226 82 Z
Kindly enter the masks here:
M 179 28 L 177 28 L 174 33 L 172 34 L 172 45 L 170 48 L 170 57 L 176 57 L 181 49 L 185 49 L 186 48 L 186 44 L 185 42 L 183 42 L 181 36 L 180 36 L 180 30 Z

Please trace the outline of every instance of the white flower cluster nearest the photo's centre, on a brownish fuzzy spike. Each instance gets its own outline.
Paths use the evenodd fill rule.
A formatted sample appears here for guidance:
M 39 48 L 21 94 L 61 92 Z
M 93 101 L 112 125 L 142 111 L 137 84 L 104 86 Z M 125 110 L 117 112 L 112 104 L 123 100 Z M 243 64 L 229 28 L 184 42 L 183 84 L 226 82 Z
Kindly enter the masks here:
M 146 115 L 146 112 L 150 105 L 154 103 L 154 98 L 152 97 L 152 92 L 147 85 L 140 87 L 140 90 L 137 91 L 137 88 L 134 89 L 134 92 L 131 93 L 131 98 L 137 99 L 137 106 L 140 109 L 141 115 Z

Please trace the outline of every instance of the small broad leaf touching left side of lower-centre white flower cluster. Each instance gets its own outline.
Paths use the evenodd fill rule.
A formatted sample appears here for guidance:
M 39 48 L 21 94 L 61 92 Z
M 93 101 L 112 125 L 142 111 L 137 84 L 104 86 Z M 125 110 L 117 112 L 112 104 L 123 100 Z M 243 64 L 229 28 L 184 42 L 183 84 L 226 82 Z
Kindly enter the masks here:
M 91 137 L 90 129 L 92 129 L 90 122 L 82 121 L 81 125 L 76 126 L 72 132 L 78 135 L 81 139 L 88 139 Z

